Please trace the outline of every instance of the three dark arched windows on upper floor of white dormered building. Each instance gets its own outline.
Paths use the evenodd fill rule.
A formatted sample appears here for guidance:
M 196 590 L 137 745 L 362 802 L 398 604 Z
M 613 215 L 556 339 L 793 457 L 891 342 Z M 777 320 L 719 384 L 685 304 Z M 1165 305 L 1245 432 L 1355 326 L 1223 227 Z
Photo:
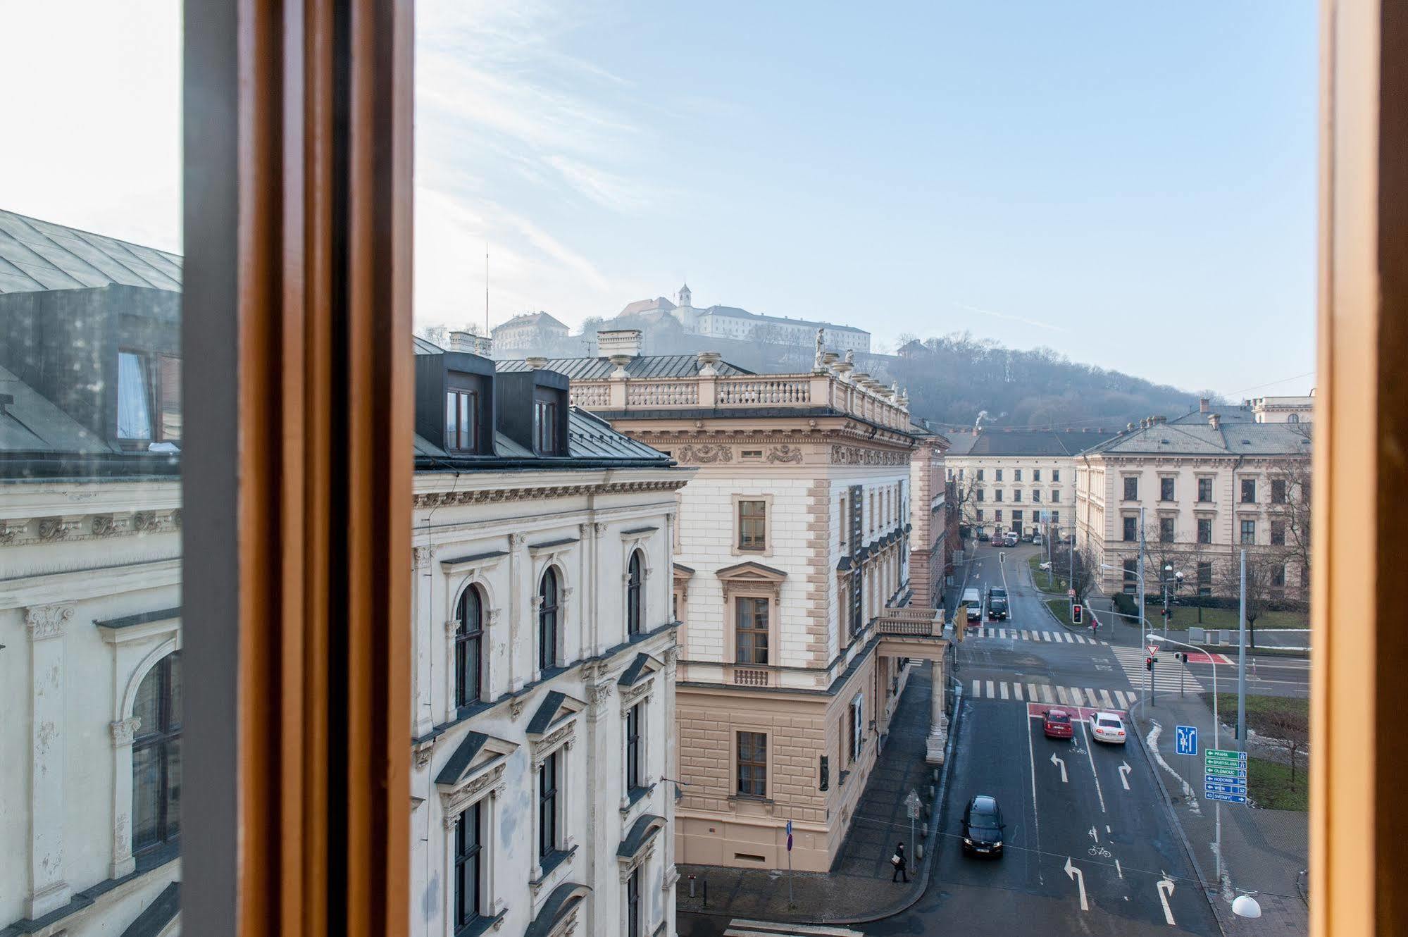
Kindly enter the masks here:
M 625 631 L 641 634 L 643 621 L 643 561 L 641 551 L 631 554 L 627 564 Z M 486 686 L 484 662 L 484 602 L 477 586 L 466 586 L 455 606 L 455 707 L 479 703 Z M 562 645 L 562 588 L 558 571 L 549 566 L 538 581 L 538 669 L 558 666 Z

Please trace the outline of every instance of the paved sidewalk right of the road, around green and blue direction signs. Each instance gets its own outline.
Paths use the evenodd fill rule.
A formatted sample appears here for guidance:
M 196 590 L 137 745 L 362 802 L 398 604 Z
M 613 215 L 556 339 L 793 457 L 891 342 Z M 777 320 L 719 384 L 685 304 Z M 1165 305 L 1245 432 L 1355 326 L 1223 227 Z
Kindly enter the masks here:
M 1202 798 L 1202 751 L 1214 747 L 1212 712 L 1201 695 L 1160 693 L 1148 710 L 1135 707 L 1135 730 L 1149 752 L 1155 774 L 1169 793 L 1214 913 L 1225 934 L 1305 934 L 1309 910 L 1301 898 L 1301 872 L 1309 867 L 1309 817 L 1291 810 L 1262 810 L 1239 803 L 1221 805 L 1222 881 L 1217 875 L 1217 806 Z M 1198 755 L 1176 754 L 1174 726 L 1198 727 Z M 1153 744 L 1150 744 L 1150 738 Z M 1221 747 L 1233 750 L 1226 733 Z M 1250 892 L 1262 917 L 1232 914 L 1232 899 Z

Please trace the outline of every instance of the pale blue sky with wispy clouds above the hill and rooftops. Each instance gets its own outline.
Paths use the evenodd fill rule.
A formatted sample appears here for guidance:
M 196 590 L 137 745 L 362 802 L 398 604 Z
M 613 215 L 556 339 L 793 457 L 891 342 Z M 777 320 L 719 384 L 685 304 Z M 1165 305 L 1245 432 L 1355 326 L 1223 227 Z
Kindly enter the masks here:
M 0 207 L 180 249 L 180 7 L 0 0 Z M 82 24 L 82 28 L 73 28 Z M 415 318 L 674 297 L 1314 386 L 1316 4 L 418 0 Z

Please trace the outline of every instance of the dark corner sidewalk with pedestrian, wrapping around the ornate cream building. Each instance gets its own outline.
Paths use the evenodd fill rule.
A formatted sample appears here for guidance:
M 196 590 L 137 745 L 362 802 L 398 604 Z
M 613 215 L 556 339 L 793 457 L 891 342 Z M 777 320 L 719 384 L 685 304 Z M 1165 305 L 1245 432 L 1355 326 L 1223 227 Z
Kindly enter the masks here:
M 850 830 L 831 872 L 793 872 L 791 891 L 796 909 L 787 906 L 786 869 L 681 864 L 676 898 L 679 910 L 752 920 L 826 924 L 888 917 L 918 900 L 928 879 L 938 830 L 931 820 L 924 860 L 919 861 L 912 855 L 914 844 L 910 841 L 904 798 L 914 789 L 928 803 L 926 792 L 932 783 L 934 765 L 926 764 L 924 758 L 925 740 L 929 734 L 932 674 L 934 668 L 929 665 L 917 666 L 910 674 L 900 696 L 900 707 L 890 723 L 884 751 L 880 752 L 866 789 L 860 793 Z M 955 726 L 950 736 L 956 733 Z M 908 885 L 890 881 L 894 874 L 890 857 L 900 840 L 910 848 L 910 858 L 915 867 Z M 694 899 L 689 896 L 690 875 L 696 876 Z M 704 882 L 708 883 L 707 903 Z

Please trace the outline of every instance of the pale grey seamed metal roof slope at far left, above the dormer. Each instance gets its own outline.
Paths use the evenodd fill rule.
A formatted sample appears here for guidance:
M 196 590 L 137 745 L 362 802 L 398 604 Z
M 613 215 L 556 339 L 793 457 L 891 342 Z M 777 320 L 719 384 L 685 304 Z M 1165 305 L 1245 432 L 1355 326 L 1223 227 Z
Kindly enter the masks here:
M 176 254 L 0 210 L 0 293 L 122 283 L 180 292 Z

